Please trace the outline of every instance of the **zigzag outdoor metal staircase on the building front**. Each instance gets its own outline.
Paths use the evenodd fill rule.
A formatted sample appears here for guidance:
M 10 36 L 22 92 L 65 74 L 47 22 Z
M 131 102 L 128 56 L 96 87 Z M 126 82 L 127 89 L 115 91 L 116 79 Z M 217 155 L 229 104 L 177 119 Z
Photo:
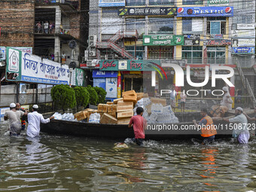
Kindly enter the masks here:
M 99 50 L 111 49 L 114 50 L 120 56 L 128 59 L 135 59 L 130 53 L 128 53 L 123 47 L 120 47 L 117 43 L 123 38 L 138 38 L 137 30 L 131 31 L 118 31 L 113 37 L 109 38 L 108 41 L 97 41 L 96 48 Z

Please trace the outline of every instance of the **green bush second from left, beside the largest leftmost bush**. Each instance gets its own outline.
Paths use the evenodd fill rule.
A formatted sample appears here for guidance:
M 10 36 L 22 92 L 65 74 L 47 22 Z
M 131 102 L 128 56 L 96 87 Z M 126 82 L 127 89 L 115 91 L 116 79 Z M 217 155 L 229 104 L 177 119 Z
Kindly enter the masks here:
M 86 107 L 89 104 L 90 94 L 85 87 L 74 87 L 77 106 Z

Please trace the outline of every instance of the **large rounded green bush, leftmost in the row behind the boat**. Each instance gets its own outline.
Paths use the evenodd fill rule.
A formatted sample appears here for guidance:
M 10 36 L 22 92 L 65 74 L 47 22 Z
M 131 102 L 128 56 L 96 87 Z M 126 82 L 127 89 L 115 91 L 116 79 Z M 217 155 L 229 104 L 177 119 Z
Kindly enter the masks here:
M 67 84 L 58 84 L 50 90 L 50 96 L 55 105 L 61 106 L 62 110 L 74 108 L 76 105 L 75 91 Z

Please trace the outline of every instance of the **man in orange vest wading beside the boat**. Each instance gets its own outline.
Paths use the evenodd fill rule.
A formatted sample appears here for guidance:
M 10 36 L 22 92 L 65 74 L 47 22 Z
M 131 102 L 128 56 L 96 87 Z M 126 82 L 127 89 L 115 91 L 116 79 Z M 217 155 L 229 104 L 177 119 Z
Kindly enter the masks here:
M 197 124 L 196 120 L 193 120 L 193 123 L 196 127 L 200 126 L 202 131 L 201 136 L 203 137 L 202 145 L 206 145 L 214 142 L 215 135 L 217 135 L 217 131 L 215 130 L 215 126 L 212 122 L 212 118 L 209 117 L 206 108 L 201 109 L 200 115 L 203 117 L 200 120 L 200 123 Z

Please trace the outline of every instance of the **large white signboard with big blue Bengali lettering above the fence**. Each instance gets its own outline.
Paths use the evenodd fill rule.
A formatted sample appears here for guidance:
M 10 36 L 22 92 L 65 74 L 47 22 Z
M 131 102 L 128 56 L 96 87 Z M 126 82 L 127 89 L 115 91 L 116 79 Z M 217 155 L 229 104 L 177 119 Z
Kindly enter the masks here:
M 69 84 L 69 66 L 41 59 L 7 47 L 7 72 L 16 73 L 17 81 L 39 84 Z

